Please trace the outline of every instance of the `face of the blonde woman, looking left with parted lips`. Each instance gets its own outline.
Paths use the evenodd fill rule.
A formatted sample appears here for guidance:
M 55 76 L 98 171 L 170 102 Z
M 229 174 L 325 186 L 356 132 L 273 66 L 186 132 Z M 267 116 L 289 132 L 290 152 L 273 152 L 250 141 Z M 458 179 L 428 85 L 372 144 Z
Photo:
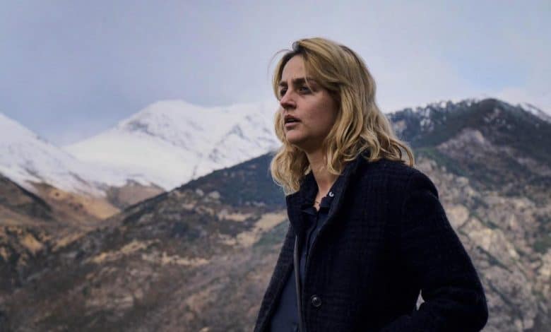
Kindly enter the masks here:
M 308 78 L 302 57 L 292 57 L 283 67 L 279 83 L 285 138 L 300 150 L 313 153 L 321 148 L 337 118 L 338 105 L 328 91 Z

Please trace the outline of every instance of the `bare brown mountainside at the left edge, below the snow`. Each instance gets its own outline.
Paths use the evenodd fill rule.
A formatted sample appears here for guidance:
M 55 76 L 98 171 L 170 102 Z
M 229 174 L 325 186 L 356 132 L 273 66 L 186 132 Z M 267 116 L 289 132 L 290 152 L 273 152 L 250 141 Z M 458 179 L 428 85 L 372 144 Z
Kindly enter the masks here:
M 112 207 L 100 199 L 70 194 L 47 184 L 36 184 L 35 189 L 40 196 L 0 175 L 2 297 L 40 271 L 52 250 L 97 227 L 101 223 L 97 211 L 112 214 Z

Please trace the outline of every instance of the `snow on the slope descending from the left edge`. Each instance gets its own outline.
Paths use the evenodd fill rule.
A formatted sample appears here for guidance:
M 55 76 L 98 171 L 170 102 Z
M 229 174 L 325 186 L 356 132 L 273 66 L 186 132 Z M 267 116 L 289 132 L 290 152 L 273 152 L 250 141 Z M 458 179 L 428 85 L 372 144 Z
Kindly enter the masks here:
M 0 113 L 0 173 L 30 191 L 44 182 L 64 191 L 102 196 L 101 182 L 124 184 L 122 174 L 90 167 Z

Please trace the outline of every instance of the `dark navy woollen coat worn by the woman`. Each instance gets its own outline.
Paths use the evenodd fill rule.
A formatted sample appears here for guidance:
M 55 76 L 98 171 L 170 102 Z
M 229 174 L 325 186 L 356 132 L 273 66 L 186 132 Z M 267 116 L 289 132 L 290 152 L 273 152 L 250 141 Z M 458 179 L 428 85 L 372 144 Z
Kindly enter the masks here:
M 292 271 L 301 208 L 316 194 L 312 172 L 286 197 L 290 226 L 263 297 L 254 331 L 269 321 Z M 480 331 L 484 290 L 446 218 L 437 189 L 401 162 L 367 162 L 345 170 L 305 271 L 302 314 L 308 332 Z M 424 302 L 416 308 L 417 296 Z M 304 332 L 304 331 L 302 331 Z

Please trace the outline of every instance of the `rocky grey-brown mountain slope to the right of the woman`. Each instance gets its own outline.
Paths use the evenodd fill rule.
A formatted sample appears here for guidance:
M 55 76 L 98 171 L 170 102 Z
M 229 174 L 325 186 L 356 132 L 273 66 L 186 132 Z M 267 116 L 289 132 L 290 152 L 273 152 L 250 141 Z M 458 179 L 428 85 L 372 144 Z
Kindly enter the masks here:
M 429 160 L 420 168 L 478 263 L 486 330 L 550 331 L 551 123 L 494 99 L 405 109 L 391 120 Z

